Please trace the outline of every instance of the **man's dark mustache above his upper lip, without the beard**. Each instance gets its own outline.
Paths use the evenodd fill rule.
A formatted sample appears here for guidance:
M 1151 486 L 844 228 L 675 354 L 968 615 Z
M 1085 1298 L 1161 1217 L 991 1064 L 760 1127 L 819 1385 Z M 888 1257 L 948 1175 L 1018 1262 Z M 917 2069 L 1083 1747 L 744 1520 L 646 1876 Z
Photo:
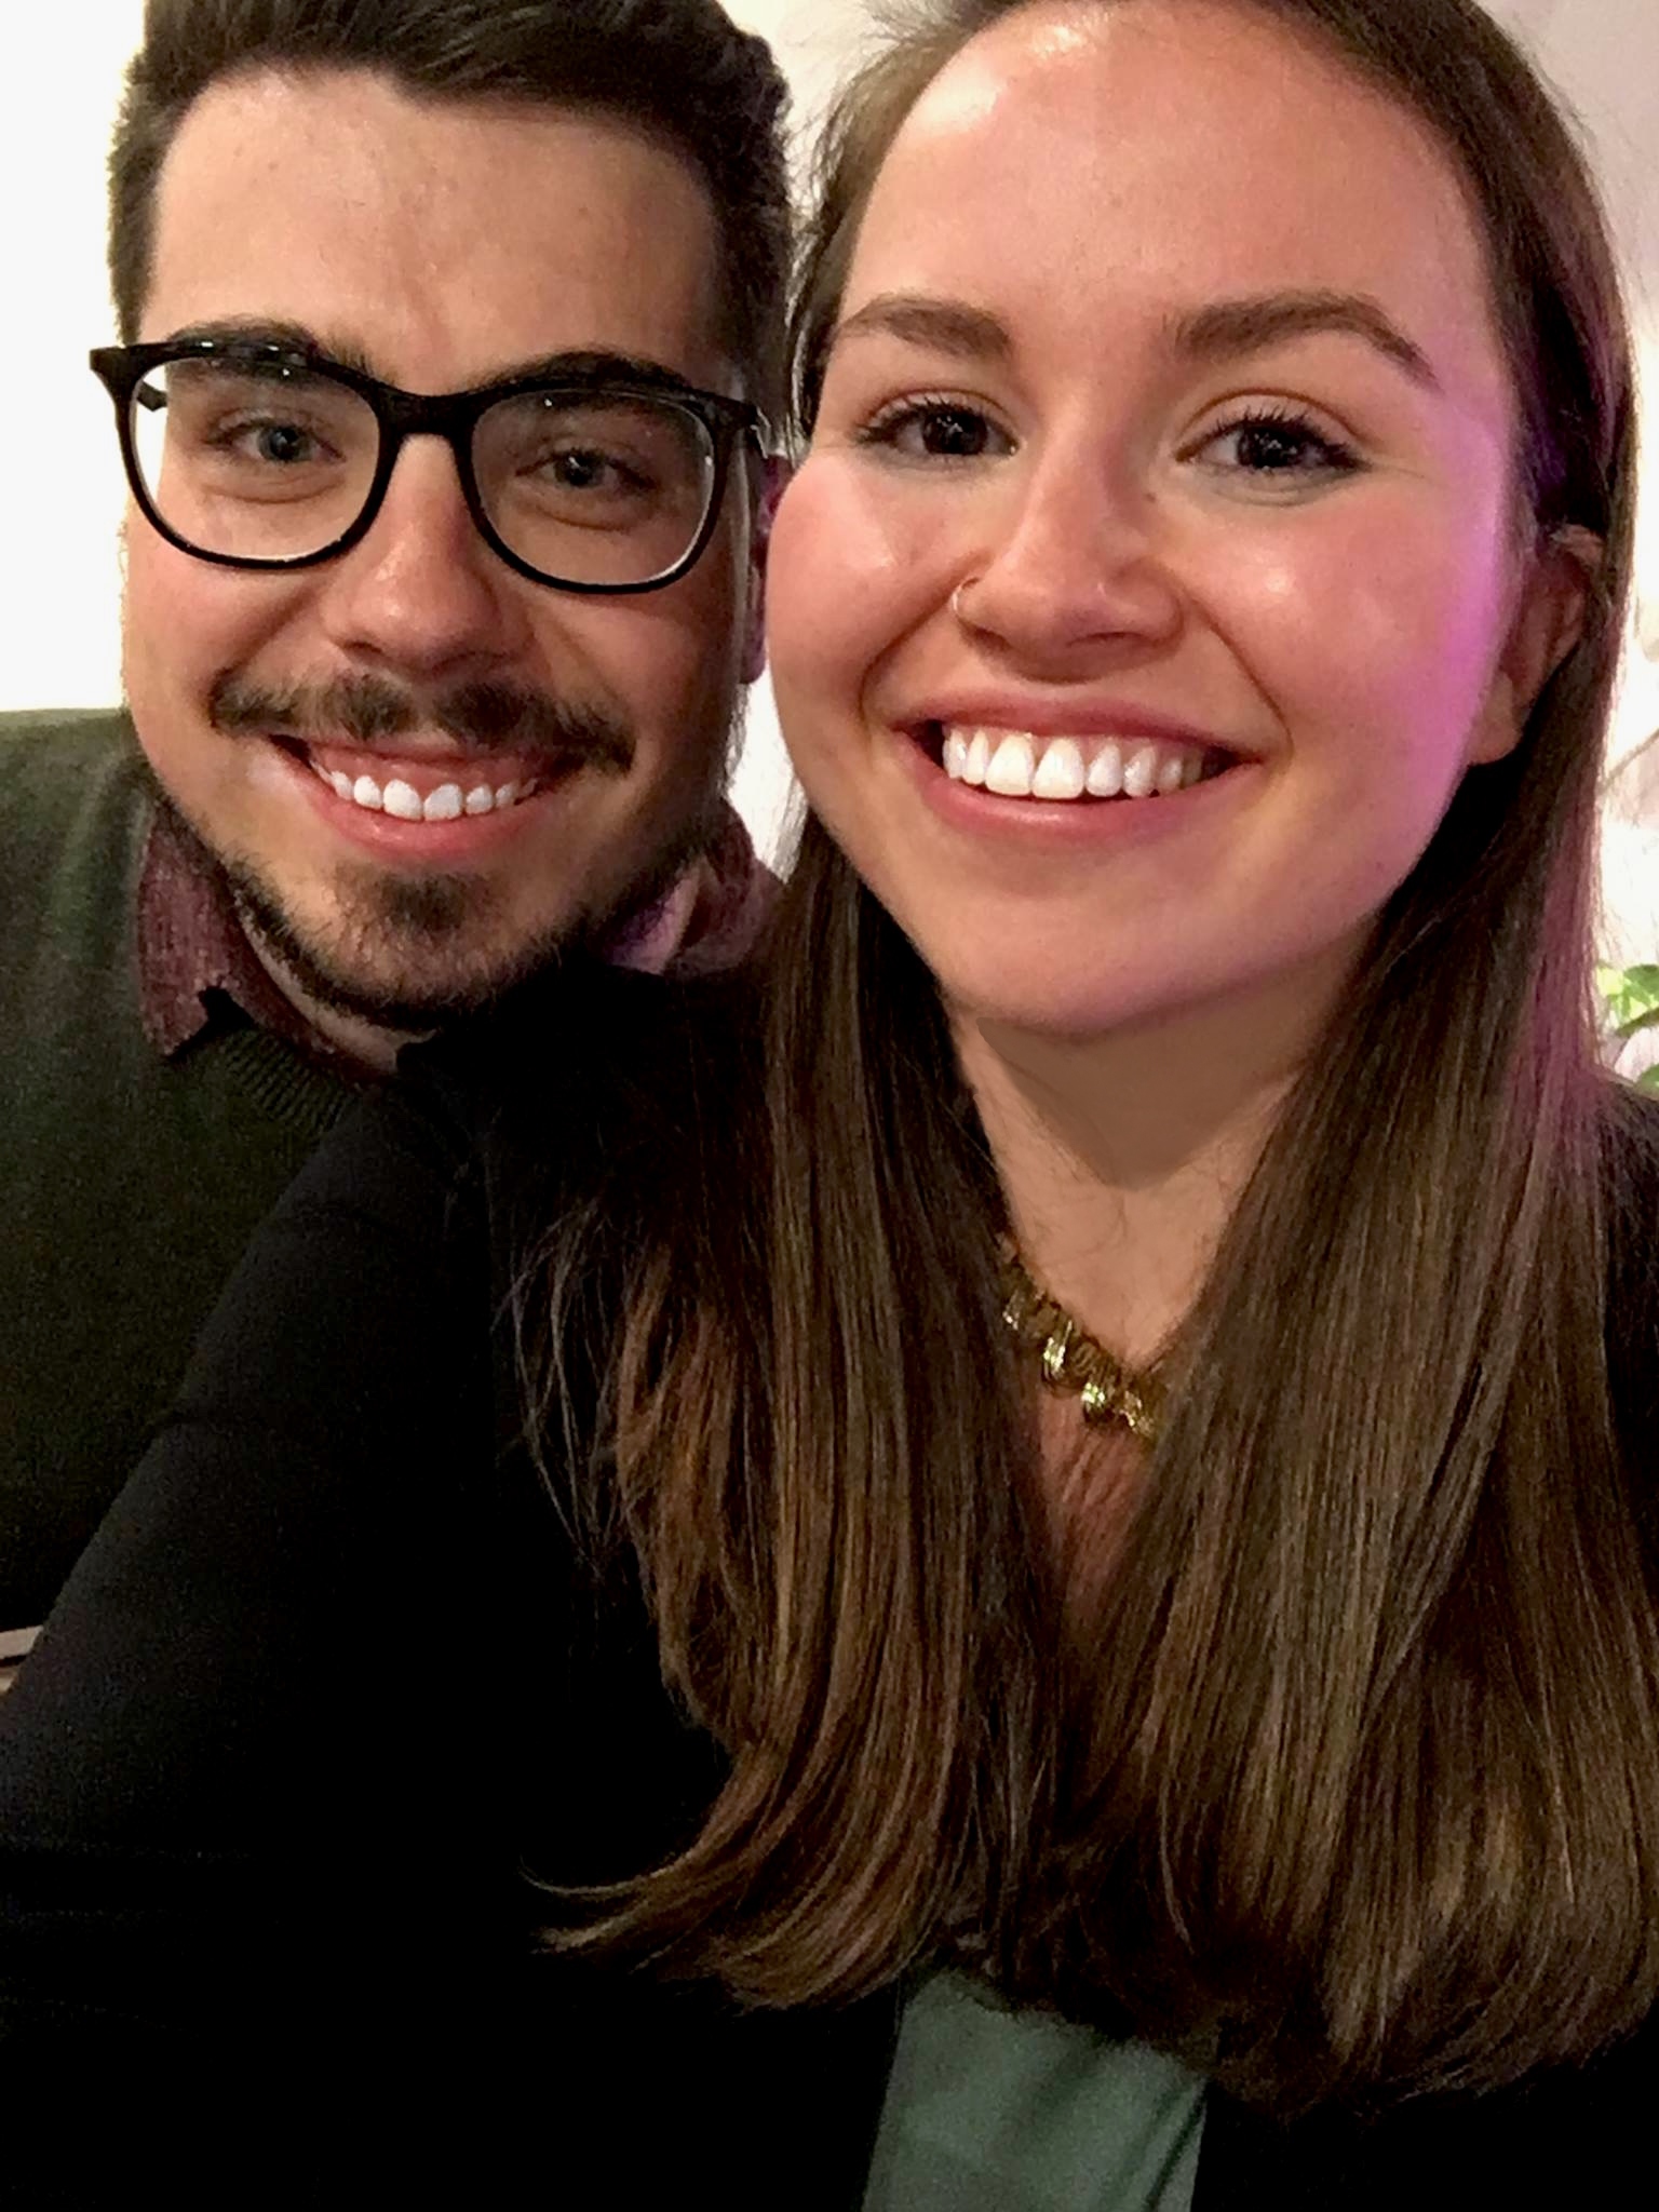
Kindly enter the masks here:
M 230 737 L 279 734 L 310 745 L 385 745 L 409 730 L 442 730 L 478 754 L 553 759 L 575 752 L 617 774 L 633 765 L 633 732 L 613 714 L 487 679 L 420 697 L 376 675 L 274 688 L 232 670 L 212 686 L 208 719 Z

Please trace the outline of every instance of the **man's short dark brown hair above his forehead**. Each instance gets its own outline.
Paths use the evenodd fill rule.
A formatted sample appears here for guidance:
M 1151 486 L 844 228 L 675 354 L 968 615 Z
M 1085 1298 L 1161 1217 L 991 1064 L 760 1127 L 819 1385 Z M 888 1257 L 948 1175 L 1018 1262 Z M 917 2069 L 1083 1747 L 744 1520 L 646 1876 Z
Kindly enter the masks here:
M 111 290 L 128 341 L 179 124 L 210 84 L 257 69 L 372 69 L 436 100 L 599 108 L 666 139 L 714 206 L 721 336 L 748 396 L 776 411 L 787 86 L 765 40 L 714 0 L 148 0 L 108 164 Z

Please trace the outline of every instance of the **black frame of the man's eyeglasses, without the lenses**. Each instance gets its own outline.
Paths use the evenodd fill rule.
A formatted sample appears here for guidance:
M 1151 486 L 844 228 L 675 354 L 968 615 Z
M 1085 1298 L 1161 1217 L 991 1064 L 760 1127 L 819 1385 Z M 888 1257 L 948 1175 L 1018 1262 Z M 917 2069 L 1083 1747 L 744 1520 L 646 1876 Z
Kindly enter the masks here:
M 768 451 L 770 440 L 770 427 L 759 407 L 752 407 L 748 400 L 726 398 L 723 392 L 699 392 L 697 385 L 681 385 L 675 378 L 644 383 L 637 378 L 604 374 L 586 378 L 509 376 L 495 385 L 473 385 L 469 392 L 420 394 L 403 392 L 398 385 L 383 385 L 378 376 L 365 376 L 363 369 L 352 369 L 341 361 L 332 361 L 327 354 L 307 354 L 292 345 L 263 338 L 175 338 L 159 345 L 100 345 L 86 358 L 93 374 L 115 400 L 115 427 L 122 440 L 122 465 L 126 467 L 126 482 L 131 484 L 133 498 L 137 500 L 144 518 L 181 553 L 190 553 L 195 560 L 215 562 L 221 568 L 314 568 L 325 560 L 336 560 L 341 553 L 349 553 L 352 546 L 367 535 L 380 511 L 385 489 L 392 482 L 392 471 L 398 465 L 398 453 L 403 451 L 403 440 L 442 438 L 456 456 L 456 471 L 467 500 L 467 513 L 473 518 L 478 535 L 491 553 L 495 553 L 498 560 L 504 560 L 518 575 L 529 577 L 531 584 L 546 584 L 551 591 L 575 591 L 588 597 L 622 597 L 641 591 L 661 591 L 666 584 L 677 584 L 684 575 L 690 575 L 703 557 L 708 540 L 714 535 L 714 524 L 719 522 L 721 504 L 726 500 L 726 482 L 732 469 L 732 451 L 739 440 L 752 440 L 757 456 Z M 314 376 L 332 376 L 336 385 L 345 385 L 347 392 L 356 392 L 358 398 L 367 400 L 380 429 L 380 451 L 376 456 L 374 476 L 356 522 L 316 553 L 294 553 L 285 560 L 270 560 L 257 553 L 210 553 L 206 546 L 197 546 L 188 538 L 181 538 L 179 531 L 175 531 L 166 518 L 157 513 L 155 500 L 144 482 L 137 453 L 133 451 L 133 400 L 137 387 L 153 369 L 159 369 L 168 361 L 232 361 L 254 367 L 305 369 Z M 697 540 L 684 560 L 677 560 L 672 568 L 664 568 L 661 575 L 646 577 L 644 584 L 580 584 L 571 577 L 549 575 L 544 568 L 533 568 L 526 560 L 513 553 L 495 524 L 489 520 L 482 493 L 478 491 L 478 471 L 473 469 L 473 429 L 478 418 L 500 400 L 522 398 L 526 392 L 549 392 L 582 400 L 655 400 L 664 407 L 679 407 L 681 414 L 697 418 L 714 453 L 714 480 L 708 493 L 708 513 L 703 515 Z

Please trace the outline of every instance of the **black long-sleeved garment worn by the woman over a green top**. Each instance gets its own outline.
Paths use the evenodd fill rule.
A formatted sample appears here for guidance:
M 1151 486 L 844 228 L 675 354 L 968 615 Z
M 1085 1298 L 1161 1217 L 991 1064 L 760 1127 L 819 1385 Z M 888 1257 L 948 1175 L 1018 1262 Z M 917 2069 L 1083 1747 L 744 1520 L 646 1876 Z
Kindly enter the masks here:
M 62 2201 L 860 2199 L 896 1995 L 741 2015 L 533 1942 L 540 1885 L 659 1858 L 719 1774 L 637 1590 L 577 1571 L 489 1316 L 526 1223 L 661 1161 L 664 1095 L 717 1115 L 721 1022 L 555 989 L 312 1159 L 0 1701 L 0 2157 Z M 535 1042 L 575 1035 L 580 1075 Z M 1369 2135 L 1212 2097 L 1197 2205 L 1559 2203 L 1641 2146 L 1655 2057 Z

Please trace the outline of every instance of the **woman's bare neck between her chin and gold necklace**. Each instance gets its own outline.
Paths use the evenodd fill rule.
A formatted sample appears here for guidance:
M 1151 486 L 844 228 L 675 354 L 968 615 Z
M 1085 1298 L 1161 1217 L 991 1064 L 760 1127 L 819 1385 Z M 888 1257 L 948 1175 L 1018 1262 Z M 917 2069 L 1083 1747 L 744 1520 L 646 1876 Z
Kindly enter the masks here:
M 1051 1037 L 956 1013 L 1031 1274 L 1130 1367 L 1179 1327 L 1334 993 Z

